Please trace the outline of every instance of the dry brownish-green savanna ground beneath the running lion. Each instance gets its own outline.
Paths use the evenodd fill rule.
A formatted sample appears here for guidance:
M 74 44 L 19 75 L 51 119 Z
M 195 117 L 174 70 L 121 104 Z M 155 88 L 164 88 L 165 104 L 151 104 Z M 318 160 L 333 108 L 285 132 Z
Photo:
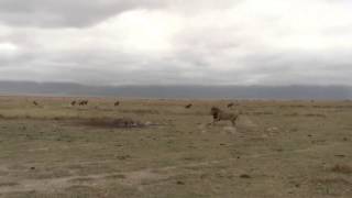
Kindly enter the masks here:
M 352 101 L 74 99 L 0 97 L 0 197 L 352 197 Z

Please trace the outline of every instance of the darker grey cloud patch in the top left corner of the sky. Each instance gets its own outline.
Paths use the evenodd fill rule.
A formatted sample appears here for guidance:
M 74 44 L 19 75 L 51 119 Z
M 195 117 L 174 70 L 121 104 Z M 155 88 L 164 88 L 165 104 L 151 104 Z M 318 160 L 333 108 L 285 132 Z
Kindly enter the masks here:
M 81 28 L 138 8 L 155 8 L 157 0 L 1 0 L 0 23 L 18 26 Z

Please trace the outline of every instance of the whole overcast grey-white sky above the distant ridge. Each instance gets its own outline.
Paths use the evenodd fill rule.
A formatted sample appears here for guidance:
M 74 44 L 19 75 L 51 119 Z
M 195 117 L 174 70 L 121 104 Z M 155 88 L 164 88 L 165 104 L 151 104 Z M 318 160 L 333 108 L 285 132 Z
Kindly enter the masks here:
M 352 1 L 0 0 L 0 80 L 352 85 Z

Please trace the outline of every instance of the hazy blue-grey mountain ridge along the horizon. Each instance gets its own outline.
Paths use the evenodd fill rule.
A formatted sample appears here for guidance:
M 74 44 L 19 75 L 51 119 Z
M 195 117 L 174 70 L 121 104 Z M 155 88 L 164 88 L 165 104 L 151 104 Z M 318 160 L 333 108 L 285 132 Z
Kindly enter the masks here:
M 87 86 L 0 80 L 0 95 L 95 96 L 165 99 L 352 99 L 349 86 Z

